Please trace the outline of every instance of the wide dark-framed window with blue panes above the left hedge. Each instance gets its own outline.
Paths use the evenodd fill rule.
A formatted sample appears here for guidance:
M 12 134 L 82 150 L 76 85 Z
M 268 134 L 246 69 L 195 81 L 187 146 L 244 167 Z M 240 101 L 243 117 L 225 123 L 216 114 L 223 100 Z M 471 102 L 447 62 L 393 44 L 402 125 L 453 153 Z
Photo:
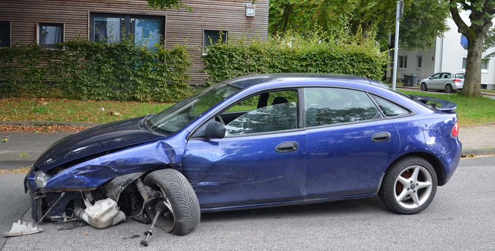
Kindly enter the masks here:
M 163 41 L 165 17 L 128 14 L 91 13 L 89 20 L 91 41 L 121 41 L 132 37 L 136 45 L 153 48 Z

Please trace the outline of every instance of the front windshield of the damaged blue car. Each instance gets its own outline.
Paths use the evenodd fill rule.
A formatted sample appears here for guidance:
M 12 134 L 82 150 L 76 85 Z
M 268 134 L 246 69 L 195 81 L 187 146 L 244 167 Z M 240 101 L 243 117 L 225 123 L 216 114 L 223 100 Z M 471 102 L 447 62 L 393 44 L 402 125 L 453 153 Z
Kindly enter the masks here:
M 161 134 L 172 134 L 201 115 L 218 102 L 239 92 L 241 88 L 217 83 L 174 106 L 153 115 L 146 124 L 151 130 Z

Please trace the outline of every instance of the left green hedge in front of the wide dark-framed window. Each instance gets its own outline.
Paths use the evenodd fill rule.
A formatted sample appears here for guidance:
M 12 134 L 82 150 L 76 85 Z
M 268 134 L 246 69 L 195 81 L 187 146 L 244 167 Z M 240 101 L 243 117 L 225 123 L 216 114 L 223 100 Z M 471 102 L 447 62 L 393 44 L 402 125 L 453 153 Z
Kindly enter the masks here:
M 49 50 L 36 45 L 0 49 L 2 97 L 178 101 L 189 95 L 191 61 L 186 46 L 152 50 L 134 45 L 76 39 Z

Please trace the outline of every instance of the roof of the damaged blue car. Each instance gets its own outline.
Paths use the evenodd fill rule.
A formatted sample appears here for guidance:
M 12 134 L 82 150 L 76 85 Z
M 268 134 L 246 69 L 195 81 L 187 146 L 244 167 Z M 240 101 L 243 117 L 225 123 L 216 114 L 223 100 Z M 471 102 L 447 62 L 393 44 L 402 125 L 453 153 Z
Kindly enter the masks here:
M 271 73 L 271 74 L 259 74 L 259 75 L 236 77 L 229 80 L 225 80 L 223 82 L 246 89 L 249 87 L 254 87 L 257 85 L 263 85 L 269 83 L 271 83 L 272 85 L 277 85 L 277 83 L 281 83 L 281 85 L 284 85 L 290 82 L 299 82 L 301 85 L 307 85 L 316 82 L 326 82 L 328 84 L 332 84 L 342 81 L 359 82 L 368 85 L 382 87 L 384 89 L 389 88 L 389 86 L 372 79 L 353 76 L 353 75 L 346 75 L 346 74 Z

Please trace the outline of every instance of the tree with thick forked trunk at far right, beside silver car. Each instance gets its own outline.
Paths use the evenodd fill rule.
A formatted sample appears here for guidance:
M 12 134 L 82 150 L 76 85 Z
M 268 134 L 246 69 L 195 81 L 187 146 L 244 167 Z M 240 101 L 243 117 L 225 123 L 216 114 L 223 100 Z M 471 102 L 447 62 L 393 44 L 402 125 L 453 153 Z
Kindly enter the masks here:
M 495 14 L 495 0 L 449 0 L 452 19 L 459 33 L 468 40 L 468 55 L 466 59 L 466 76 L 462 93 L 467 96 L 481 95 L 481 63 L 483 45 Z M 461 18 L 460 11 L 470 11 L 468 25 Z

